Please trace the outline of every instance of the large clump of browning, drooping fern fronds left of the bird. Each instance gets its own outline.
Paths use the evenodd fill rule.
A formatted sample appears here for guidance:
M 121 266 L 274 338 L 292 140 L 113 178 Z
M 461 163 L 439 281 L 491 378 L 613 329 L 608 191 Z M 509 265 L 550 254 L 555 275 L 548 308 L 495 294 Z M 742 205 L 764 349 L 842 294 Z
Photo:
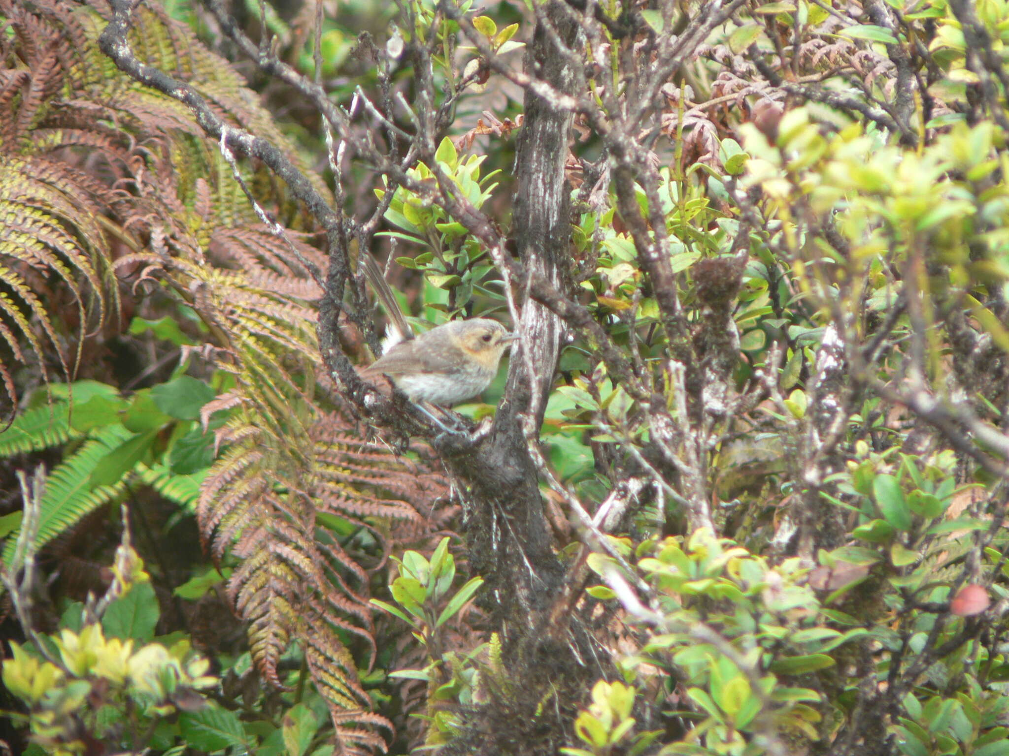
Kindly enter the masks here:
M 430 523 L 427 515 L 447 483 L 423 457 L 398 459 L 363 444 L 351 421 L 324 409 L 332 397 L 315 375 L 310 304 L 321 291 L 303 260 L 324 267 L 325 255 L 308 234 L 272 235 L 185 108 L 97 53 L 107 12 L 100 1 L 0 0 L 17 49 L 5 59 L 24 72 L 0 71 L 0 110 L 10 111 L 0 112 L 0 213 L 18 217 L 0 230 L 0 244 L 9 239 L 0 280 L 10 284 L 0 291 L 0 341 L 14 359 L 34 353 L 43 371 L 57 350 L 68 371 L 72 321 L 46 311 L 51 299 L 40 292 L 70 292 L 83 337 L 85 324 L 101 324 L 118 301 L 110 273 L 135 291 L 156 279 L 158 290 L 196 310 L 210 331 L 203 346 L 212 347 L 201 354 L 234 376 L 204 408 L 205 423 L 211 412 L 231 415 L 216 430 L 223 451 L 196 502 L 204 547 L 238 560 L 229 597 L 263 676 L 282 684 L 278 659 L 299 643 L 342 752 L 384 750 L 391 726 L 371 711 L 354 661 L 370 664 L 376 654 L 370 584 L 390 532 L 424 537 L 442 526 L 441 513 Z M 133 18 L 130 41 L 141 57 L 193 82 L 227 122 L 288 143 L 240 77 L 189 28 L 153 4 Z M 240 169 L 267 212 L 312 231 L 282 183 L 257 166 Z M 113 249 L 126 254 L 113 259 Z M 9 391 L 10 376 L 0 365 Z M 325 518 L 316 521 L 320 513 L 351 523 L 353 533 L 330 530 Z

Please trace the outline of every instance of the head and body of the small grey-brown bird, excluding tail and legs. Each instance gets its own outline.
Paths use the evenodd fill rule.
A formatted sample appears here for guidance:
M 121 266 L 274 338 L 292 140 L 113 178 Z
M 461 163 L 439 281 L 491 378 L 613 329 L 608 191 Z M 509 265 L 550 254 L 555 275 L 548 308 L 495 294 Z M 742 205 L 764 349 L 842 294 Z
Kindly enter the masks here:
M 386 375 L 413 401 L 451 406 L 490 385 L 516 338 L 496 321 L 453 321 L 399 342 L 364 368 L 361 377 Z

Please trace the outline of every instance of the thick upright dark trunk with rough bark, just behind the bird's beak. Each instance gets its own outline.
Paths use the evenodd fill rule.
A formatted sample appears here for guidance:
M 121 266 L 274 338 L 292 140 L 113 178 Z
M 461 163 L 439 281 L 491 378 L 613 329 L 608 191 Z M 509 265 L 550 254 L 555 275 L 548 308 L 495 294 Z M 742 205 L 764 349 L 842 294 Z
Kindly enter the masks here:
M 526 73 L 555 90 L 574 94 L 578 72 L 558 49 L 577 47 L 580 30 L 559 7 L 548 5 L 526 57 Z M 571 218 L 564 160 L 570 110 L 527 91 L 525 121 L 517 144 L 515 229 L 528 275 L 565 290 Z M 522 301 L 526 281 L 515 280 Z M 470 563 L 486 581 L 484 605 L 504 644 L 509 689 L 491 689 L 491 703 L 473 713 L 451 748 L 459 753 L 553 754 L 564 744 L 574 710 L 599 668 L 581 665 L 587 635 L 550 614 L 564 571 L 554 555 L 538 476 L 524 427 L 539 428 L 560 353 L 561 320 L 532 299 L 516 324 L 522 341 L 514 350 L 504 399 L 494 424 L 475 451 L 446 459 L 469 485 L 466 530 Z M 447 450 L 444 450 L 447 452 Z M 443 453 L 444 453 L 443 452 Z M 553 697 L 545 702 L 545 697 Z

